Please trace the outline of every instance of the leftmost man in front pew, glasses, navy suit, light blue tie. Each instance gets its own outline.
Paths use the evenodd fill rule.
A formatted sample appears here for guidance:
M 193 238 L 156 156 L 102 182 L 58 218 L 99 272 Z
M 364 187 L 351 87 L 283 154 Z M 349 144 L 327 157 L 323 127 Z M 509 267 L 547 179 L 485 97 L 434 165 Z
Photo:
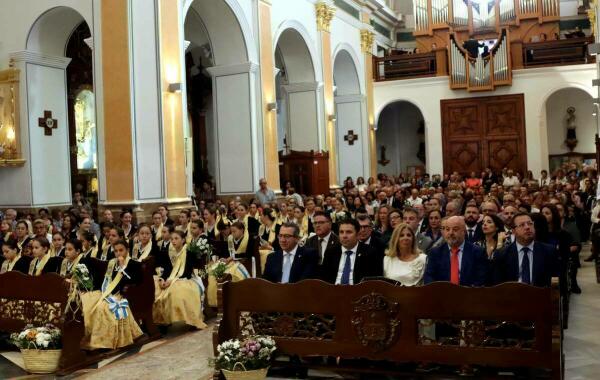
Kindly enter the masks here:
M 282 284 L 316 277 L 318 255 L 314 249 L 298 246 L 300 228 L 295 223 L 284 223 L 279 229 L 281 250 L 267 257 L 263 278 Z

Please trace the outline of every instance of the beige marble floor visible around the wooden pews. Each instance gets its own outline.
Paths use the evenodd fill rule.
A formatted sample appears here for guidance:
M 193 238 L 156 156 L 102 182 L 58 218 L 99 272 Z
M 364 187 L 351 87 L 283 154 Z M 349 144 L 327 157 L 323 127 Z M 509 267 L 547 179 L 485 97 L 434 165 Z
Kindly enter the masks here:
M 582 257 L 586 257 L 583 253 Z M 568 380 L 600 379 L 600 284 L 593 263 L 583 263 L 579 273 L 581 295 L 571 297 L 569 329 L 565 331 L 564 351 Z M 214 322 L 213 322 L 214 323 Z M 208 379 L 212 368 L 212 327 L 196 332 L 172 332 L 166 338 L 79 371 L 68 379 Z M 27 375 L 17 352 L 0 352 L 0 378 L 51 379 Z M 341 379 L 334 373 L 310 371 L 311 379 Z M 277 379 L 282 379 L 278 377 Z

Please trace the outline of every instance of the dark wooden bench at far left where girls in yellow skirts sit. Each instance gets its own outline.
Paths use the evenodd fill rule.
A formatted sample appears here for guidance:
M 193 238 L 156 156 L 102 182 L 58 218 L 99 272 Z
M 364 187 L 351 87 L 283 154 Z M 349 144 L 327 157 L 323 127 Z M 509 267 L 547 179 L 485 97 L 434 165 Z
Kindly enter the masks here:
M 106 270 L 106 262 L 92 259 L 89 265 L 91 267 L 97 265 Z M 147 333 L 136 341 L 136 344 L 159 337 L 158 329 L 152 322 L 154 302 L 152 260 L 144 262 L 142 270 L 142 283 L 124 291 L 132 314 L 142 322 Z M 59 375 L 85 368 L 127 349 L 97 352 L 82 350 L 81 340 L 85 333 L 83 315 L 73 303 L 67 310 L 69 291 L 69 283 L 55 273 L 37 277 L 14 271 L 0 274 L 0 331 L 19 332 L 28 324 L 38 327 L 47 323 L 52 323 L 61 329 L 63 347 L 57 372 Z

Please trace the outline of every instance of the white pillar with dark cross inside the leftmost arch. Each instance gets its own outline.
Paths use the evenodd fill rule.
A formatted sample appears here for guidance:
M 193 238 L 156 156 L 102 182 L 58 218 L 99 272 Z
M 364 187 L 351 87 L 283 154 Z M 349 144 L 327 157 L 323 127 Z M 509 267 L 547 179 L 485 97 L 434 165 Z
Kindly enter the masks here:
M 10 54 L 20 74 L 20 141 L 26 163 L 0 171 L 0 207 L 72 203 L 66 68 L 70 58 L 19 51 Z M 45 135 L 38 119 L 52 112 L 56 128 Z

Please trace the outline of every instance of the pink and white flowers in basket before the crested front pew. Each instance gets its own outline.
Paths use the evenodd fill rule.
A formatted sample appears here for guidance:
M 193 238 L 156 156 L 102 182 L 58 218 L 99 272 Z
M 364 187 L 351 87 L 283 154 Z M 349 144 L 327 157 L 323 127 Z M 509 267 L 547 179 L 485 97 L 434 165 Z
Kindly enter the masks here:
M 217 346 L 219 354 L 213 361 L 215 368 L 227 371 L 268 368 L 277 349 L 270 336 L 250 336 L 243 340 L 231 339 Z

